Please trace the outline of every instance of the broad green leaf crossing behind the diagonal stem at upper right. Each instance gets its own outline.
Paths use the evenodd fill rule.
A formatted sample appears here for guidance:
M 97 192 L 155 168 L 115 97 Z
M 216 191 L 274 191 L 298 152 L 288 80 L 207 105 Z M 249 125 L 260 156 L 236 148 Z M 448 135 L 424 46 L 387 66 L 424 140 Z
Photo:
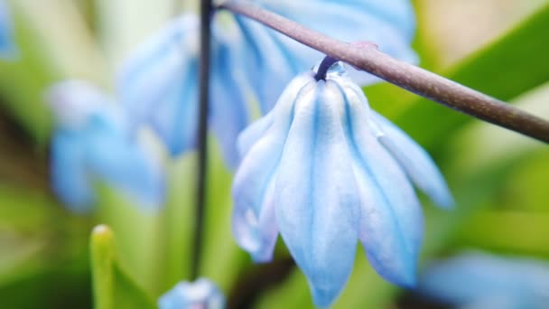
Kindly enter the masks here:
M 505 36 L 442 75 L 495 98 L 516 98 L 549 80 L 549 41 L 543 39 L 547 29 L 549 5 L 544 5 Z M 472 119 L 425 98 L 403 105 L 400 112 L 393 110 L 388 116 L 430 148 L 441 145 L 451 132 Z

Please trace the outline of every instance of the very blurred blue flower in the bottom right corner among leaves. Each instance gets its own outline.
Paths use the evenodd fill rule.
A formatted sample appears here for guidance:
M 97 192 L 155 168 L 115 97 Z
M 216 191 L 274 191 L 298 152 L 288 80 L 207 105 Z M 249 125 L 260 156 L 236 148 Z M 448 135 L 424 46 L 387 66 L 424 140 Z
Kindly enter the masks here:
M 418 290 L 461 308 L 542 309 L 549 304 L 549 264 L 469 252 L 427 268 Z

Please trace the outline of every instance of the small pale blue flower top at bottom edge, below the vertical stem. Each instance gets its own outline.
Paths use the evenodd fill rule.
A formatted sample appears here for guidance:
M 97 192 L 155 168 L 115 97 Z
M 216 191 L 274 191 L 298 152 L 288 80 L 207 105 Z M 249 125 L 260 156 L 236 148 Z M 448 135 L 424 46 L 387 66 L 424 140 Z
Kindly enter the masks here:
M 225 297 L 211 281 L 200 278 L 193 283 L 181 282 L 158 300 L 160 309 L 222 309 Z

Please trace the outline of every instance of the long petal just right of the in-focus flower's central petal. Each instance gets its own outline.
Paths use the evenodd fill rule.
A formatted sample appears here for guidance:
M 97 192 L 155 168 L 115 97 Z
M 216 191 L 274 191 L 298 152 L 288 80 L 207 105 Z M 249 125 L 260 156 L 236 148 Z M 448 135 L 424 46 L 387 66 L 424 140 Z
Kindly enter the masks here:
M 415 264 L 423 239 L 423 214 L 404 171 L 377 142 L 368 125 L 368 101 L 346 78 L 333 78 L 347 99 L 349 138 L 362 222 L 360 240 L 377 272 L 401 286 L 414 286 Z

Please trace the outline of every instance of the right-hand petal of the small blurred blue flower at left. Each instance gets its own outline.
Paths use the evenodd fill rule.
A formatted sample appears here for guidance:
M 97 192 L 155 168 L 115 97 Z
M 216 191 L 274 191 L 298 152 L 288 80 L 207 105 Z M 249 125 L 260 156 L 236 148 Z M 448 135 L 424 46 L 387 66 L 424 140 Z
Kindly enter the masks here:
M 155 157 L 101 117 L 91 117 L 87 130 L 88 173 L 125 192 L 145 209 L 161 206 L 163 171 Z

